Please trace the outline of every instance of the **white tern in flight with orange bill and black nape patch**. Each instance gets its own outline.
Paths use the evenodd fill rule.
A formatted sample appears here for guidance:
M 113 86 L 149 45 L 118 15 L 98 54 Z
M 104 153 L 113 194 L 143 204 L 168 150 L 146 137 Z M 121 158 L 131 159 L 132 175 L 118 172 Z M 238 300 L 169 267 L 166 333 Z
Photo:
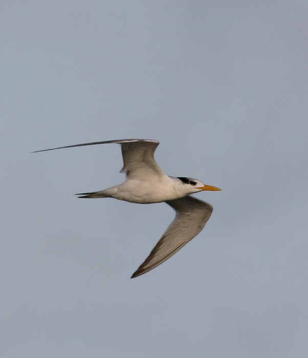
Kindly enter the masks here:
M 204 228 L 212 214 L 213 207 L 211 204 L 189 195 L 205 190 L 221 189 L 204 185 L 194 178 L 166 175 L 154 159 L 154 152 L 159 141 L 151 139 L 121 139 L 83 143 L 35 152 L 108 143 L 121 145 L 124 165 L 120 173 L 125 172 L 125 182 L 105 190 L 76 195 L 81 195 L 80 198 L 113 197 L 136 204 L 165 202 L 176 212 L 174 220 L 155 248 L 131 276 L 134 278 L 166 261 Z

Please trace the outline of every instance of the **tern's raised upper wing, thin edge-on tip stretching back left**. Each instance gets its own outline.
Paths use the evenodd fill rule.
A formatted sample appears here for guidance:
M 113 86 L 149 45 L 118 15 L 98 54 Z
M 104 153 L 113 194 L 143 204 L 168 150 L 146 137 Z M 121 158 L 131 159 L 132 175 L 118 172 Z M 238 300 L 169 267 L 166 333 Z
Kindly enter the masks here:
M 104 141 L 104 142 L 92 142 L 92 143 L 83 143 L 68 145 L 65 147 L 58 147 L 52 149 L 43 149 L 37 150 L 36 152 L 43 152 L 47 150 L 62 149 L 62 148 L 72 148 L 72 147 L 82 147 L 85 145 L 95 145 L 95 144 L 108 144 L 108 143 L 118 143 L 122 147 L 122 156 L 124 166 L 121 169 L 121 173 L 125 172 L 126 176 L 129 177 L 138 177 L 150 176 L 150 175 L 162 175 L 164 172 L 157 165 L 154 160 L 154 152 L 159 141 L 152 139 L 120 139 L 114 141 Z

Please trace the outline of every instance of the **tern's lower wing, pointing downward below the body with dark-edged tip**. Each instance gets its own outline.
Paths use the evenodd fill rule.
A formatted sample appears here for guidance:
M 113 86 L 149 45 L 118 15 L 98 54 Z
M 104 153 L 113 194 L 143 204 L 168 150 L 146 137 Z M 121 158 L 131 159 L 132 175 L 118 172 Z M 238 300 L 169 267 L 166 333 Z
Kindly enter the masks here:
M 166 202 L 176 212 L 174 220 L 131 278 L 145 274 L 166 261 L 204 228 L 212 214 L 211 204 L 192 196 Z

